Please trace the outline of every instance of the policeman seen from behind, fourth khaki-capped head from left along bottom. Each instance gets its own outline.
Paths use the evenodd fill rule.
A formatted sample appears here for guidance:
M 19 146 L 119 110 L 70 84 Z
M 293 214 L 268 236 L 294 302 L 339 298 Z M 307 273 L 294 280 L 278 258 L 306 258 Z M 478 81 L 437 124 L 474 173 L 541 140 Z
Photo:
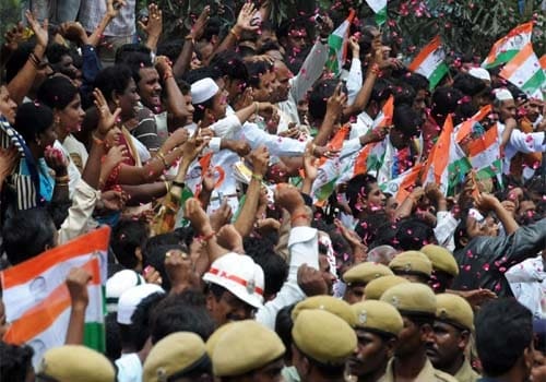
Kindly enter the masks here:
M 292 336 L 292 359 L 301 382 L 344 381 L 345 362 L 357 346 L 346 321 L 324 310 L 302 310 Z

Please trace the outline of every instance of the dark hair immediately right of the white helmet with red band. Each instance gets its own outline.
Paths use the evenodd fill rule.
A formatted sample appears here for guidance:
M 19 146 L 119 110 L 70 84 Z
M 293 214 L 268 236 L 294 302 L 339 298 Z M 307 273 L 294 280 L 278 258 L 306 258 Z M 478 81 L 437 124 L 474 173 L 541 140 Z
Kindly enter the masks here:
M 245 253 L 260 265 L 265 275 L 264 297 L 273 296 L 281 290 L 288 276 L 288 264 L 275 253 L 274 244 L 260 238 L 245 238 Z

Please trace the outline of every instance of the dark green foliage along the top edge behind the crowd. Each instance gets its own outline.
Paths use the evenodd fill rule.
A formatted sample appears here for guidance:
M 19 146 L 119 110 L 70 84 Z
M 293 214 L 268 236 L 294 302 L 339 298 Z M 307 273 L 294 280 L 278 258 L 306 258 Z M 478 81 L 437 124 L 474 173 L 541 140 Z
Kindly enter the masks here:
M 55 1 L 55 0 L 51 0 Z M 100 1 L 100 0 L 95 0 Z M 244 0 L 156 0 L 164 14 L 164 39 L 181 38 L 205 4 L 212 4 L 226 28 L 236 19 Z M 328 12 L 337 24 L 353 8 L 363 22 L 373 13 L 365 0 L 270 0 L 272 21 L 309 17 L 317 10 Z M 138 0 L 142 10 L 146 0 Z M 396 48 L 413 56 L 435 35 L 440 34 L 451 53 L 467 57 L 487 55 L 492 43 L 515 25 L 535 20 L 533 45 L 536 53 L 546 50 L 546 0 L 389 0 L 389 22 L 383 32 Z M 0 33 L 19 19 L 20 0 L 0 0 Z

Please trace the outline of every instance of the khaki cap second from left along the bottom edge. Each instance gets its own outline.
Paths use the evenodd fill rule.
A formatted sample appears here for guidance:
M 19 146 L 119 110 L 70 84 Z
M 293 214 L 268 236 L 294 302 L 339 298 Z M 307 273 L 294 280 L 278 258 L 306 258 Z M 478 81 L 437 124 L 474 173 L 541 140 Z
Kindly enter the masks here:
M 143 367 L 144 382 L 167 381 L 183 373 L 206 357 L 203 339 L 195 333 L 178 332 L 161 339 L 150 351 Z

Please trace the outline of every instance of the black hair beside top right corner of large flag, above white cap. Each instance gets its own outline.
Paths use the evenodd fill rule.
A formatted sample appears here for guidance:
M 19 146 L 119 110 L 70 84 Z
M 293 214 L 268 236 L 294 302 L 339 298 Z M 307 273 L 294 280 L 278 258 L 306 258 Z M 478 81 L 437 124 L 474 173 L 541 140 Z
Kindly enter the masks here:
M 136 248 L 143 250 L 144 242 L 150 236 L 147 224 L 141 220 L 122 219 L 111 232 L 110 247 L 121 265 L 133 270 L 139 259 L 134 255 Z

